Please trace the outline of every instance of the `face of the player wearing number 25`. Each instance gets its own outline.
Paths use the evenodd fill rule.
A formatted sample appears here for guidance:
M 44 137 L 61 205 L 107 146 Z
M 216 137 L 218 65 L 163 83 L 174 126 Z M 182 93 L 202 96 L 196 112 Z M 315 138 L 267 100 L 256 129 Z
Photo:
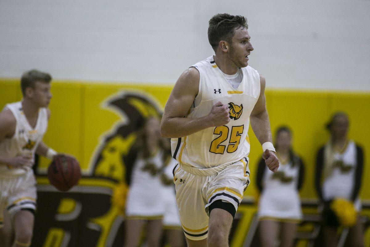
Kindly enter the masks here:
M 248 66 L 248 56 L 253 51 L 247 29 L 235 29 L 229 59 L 239 68 Z

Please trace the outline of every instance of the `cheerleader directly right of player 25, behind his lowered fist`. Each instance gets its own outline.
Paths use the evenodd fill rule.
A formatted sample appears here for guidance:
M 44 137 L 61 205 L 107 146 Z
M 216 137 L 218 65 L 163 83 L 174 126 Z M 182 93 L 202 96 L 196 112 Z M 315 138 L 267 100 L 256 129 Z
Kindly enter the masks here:
M 262 247 L 281 247 L 294 244 L 297 226 L 302 220 L 299 190 L 302 187 L 304 166 L 292 150 L 292 133 L 288 127 L 276 131 L 276 154 L 280 161 L 275 173 L 266 169 L 260 160 L 257 171 L 259 239 Z

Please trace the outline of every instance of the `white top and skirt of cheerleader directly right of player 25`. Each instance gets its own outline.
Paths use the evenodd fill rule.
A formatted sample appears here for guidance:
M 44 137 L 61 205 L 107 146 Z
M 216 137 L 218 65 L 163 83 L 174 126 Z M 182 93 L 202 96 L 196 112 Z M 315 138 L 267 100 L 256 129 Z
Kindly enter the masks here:
M 299 165 L 291 162 L 280 164 L 279 171 L 273 173 L 265 169 L 263 190 L 258 205 L 258 216 L 279 219 L 302 219 L 302 209 L 297 190 Z

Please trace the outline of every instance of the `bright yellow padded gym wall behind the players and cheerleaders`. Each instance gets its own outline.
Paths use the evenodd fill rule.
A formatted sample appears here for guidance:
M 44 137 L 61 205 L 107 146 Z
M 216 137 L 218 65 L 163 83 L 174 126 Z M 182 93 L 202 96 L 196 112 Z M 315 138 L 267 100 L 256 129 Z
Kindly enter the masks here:
M 118 111 L 105 105 L 115 94 L 134 90 L 147 93 L 164 107 L 172 86 L 154 86 L 152 84 L 107 84 L 78 81 L 53 81 L 50 103 L 51 118 L 44 142 L 61 153 L 69 153 L 79 161 L 83 174 L 88 175 L 94 152 L 100 146 L 100 140 L 114 130 L 117 123 L 125 121 Z M 6 103 L 21 100 L 19 79 L 0 79 L 0 107 Z M 370 93 L 344 93 L 329 91 L 294 91 L 266 90 L 267 109 L 272 131 L 287 125 L 293 131 L 293 147 L 304 160 L 306 176 L 301 191 L 302 198 L 316 198 L 314 190 L 314 160 L 316 151 L 329 137 L 324 126 L 335 111 L 345 111 L 350 118 L 349 137 L 359 143 L 365 151 L 365 168 L 361 188 L 361 198 L 370 200 Z M 251 144 L 250 172 L 251 184 L 245 192 L 245 198 L 256 195 L 255 174 L 262 148 L 249 128 Z M 46 172 L 50 161 L 41 158 L 41 173 Z M 40 183 L 41 180 L 39 180 Z M 45 180 L 42 180 L 45 182 Z M 343 181 L 346 182 L 346 181 Z M 248 207 L 250 208 L 250 207 Z M 244 206 L 239 211 L 244 209 Z M 255 206 L 252 207 L 255 211 Z M 250 211 L 249 211 L 250 212 Z M 370 215 L 368 210 L 364 214 Z M 252 214 L 249 214 L 251 217 Z M 249 224 L 249 218 L 243 220 Z M 241 228 L 238 228 L 239 230 Z M 243 228 L 241 237 L 233 240 L 231 246 L 240 246 L 245 236 Z M 238 236 L 238 234 L 236 235 Z M 370 231 L 366 235 L 370 243 Z M 99 245 L 100 246 L 100 245 Z

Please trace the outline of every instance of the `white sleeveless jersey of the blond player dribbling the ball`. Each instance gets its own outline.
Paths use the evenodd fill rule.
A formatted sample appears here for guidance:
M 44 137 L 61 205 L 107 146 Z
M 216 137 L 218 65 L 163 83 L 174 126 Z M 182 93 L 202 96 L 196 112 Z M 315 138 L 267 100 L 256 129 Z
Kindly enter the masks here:
M 36 148 L 47 129 L 47 109 L 40 108 L 38 111 L 35 128 L 32 128 L 28 123 L 23 113 L 21 101 L 7 104 L 4 109 L 9 109 L 13 113 L 17 123 L 13 137 L 4 138 L 0 142 L 0 155 L 3 157 L 31 156 L 34 160 Z M 26 173 L 23 169 L 0 165 L 0 174 L 17 175 L 23 173 Z

